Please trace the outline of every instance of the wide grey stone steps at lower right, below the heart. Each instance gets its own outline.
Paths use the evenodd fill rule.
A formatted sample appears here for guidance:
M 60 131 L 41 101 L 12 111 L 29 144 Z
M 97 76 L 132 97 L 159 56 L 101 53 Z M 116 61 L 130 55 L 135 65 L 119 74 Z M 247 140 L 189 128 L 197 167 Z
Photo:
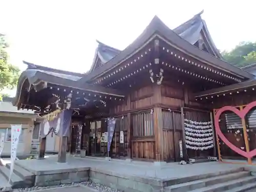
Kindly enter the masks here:
M 240 171 L 220 176 L 170 185 L 164 188 L 166 192 L 214 192 L 214 191 L 246 191 L 256 187 L 256 177 L 250 172 Z

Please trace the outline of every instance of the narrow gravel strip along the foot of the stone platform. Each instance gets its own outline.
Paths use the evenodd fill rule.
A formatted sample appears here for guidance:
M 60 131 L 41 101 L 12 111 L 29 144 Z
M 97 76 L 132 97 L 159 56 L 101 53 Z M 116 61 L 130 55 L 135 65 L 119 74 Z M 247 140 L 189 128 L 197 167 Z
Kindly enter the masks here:
M 46 187 L 30 187 L 30 188 L 19 188 L 19 189 L 14 189 L 13 192 L 19 191 L 19 192 L 24 192 L 24 191 L 36 191 L 36 190 L 42 190 L 42 189 L 55 189 L 59 187 L 65 187 L 65 186 L 77 186 L 77 185 L 84 185 L 88 186 L 92 189 L 96 189 L 101 192 L 123 192 L 117 189 L 110 188 L 105 185 L 101 185 L 99 183 L 94 183 L 92 181 L 84 181 L 81 183 L 71 183 L 71 184 L 61 184 L 61 185 L 53 185 L 53 186 L 46 186 Z M 70 191 L 72 192 L 72 191 Z

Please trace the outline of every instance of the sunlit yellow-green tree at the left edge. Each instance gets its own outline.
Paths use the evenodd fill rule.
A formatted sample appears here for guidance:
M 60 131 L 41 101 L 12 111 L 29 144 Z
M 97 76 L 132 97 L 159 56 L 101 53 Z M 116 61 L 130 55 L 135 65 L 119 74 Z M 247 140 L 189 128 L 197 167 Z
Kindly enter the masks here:
M 8 44 L 4 34 L 0 33 L 0 93 L 5 89 L 13 89 L 17 85 L 19 69 L 8 61 L 6 49 Z M 0 97 L 0 100 L 2 96 Z

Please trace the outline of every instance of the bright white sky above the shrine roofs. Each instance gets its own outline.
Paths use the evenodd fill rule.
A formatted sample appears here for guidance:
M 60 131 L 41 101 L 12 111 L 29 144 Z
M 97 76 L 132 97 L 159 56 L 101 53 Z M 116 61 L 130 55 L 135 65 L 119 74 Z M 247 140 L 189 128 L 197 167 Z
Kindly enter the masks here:
M 173 29 L 204 10 L 202 17 L 220 50 L 256 41 L 255 6 L 248 0 L 0 0 L 0 33 L 7 34 L 10 60 L 22 70 L 26 60 L 83 73 L 92 64 L 96 39 L 124 49 L 154 15 Z

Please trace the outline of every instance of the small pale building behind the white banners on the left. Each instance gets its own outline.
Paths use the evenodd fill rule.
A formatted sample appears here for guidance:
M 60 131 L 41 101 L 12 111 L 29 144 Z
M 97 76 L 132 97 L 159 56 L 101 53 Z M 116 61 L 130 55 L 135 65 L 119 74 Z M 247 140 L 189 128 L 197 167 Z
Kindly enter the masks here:
M 4 150 L 1 156 L 10 156 L 11 154 L 11 124 L 22 124 L 17 156 L 36 154 L 40 139 L 38 116 L 31 110 L 17 110 L 17 107 L 12 105 L 12 99 L 4 97 L 3 101 L 0 101 L 0 133 L 5 133 Z M 46 152 L 57 151 L 57 136 L 49 134 L 47 136 Z

